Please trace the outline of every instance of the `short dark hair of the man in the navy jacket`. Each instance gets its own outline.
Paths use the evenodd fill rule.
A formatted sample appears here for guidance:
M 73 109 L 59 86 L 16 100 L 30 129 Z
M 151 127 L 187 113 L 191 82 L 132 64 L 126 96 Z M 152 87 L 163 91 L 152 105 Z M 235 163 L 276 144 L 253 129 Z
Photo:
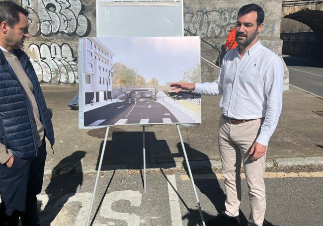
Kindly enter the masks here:
M 28 11 L 13 1 L 0 1 L 0 23 L 7 22 L 12 28 L 19 23 L 19 12 L 28 16 Z

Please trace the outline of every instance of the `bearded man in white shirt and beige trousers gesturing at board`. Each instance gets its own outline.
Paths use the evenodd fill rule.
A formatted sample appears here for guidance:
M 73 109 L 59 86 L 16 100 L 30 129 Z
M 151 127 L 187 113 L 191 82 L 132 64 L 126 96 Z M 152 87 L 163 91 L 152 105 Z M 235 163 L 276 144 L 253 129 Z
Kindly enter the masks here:
M 226 211 L 209 226 L 240 225 L 240 168 L 243 162 L 251 213 L 248 226 L 262 226 L 265 216 L 265 154 L 282 108 L 284 69 L 280 58 L 262 46 L 264 11 L 257 4 L 238 12 L 238 47 L 224 57 L 217 80 L 205 83 L 171 83 L 172 90 L 221 95 L 219 149 L 225 178 Z

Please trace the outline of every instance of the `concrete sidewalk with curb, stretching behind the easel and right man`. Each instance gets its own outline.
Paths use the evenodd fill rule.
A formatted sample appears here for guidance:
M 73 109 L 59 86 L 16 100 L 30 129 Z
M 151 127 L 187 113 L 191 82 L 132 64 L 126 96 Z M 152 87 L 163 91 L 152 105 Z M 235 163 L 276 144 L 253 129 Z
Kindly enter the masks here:
M 56 144 L 48 151 L 46 174 L 95 173 L 105 128 L 78 129 L 78 111 L 68 103 L 77 87 L 42 85 L 48 108 L 53 112 Z M 180 126 L 192 168 L 220 168 L 217 136 L 221 115 L 219 96 L 202 96 L 202 123 Z M 323 166 L 323 99 L 294 87 L 283 94 L 283 110 L 266 154 L 267 167 Z M 143 165 L 142 126 L 112 126 L 109 130 L 102 171 L 136 170 Z M 70 165 L 70 157 L 80 163 Z M 148 170 L 183 169 L 183 153 L 175 125 L 146 127 Z

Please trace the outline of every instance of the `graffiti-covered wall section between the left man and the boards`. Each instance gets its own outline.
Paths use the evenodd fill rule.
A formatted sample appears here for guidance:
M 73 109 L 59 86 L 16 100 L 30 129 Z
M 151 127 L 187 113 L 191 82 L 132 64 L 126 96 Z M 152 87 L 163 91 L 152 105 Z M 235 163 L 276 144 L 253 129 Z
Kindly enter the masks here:
M 90 21 L 95 25 L 95 1 L 86 1 L 91 7 L 81 0 L 20 0 L 16 3 L 29 11 L 31 37 L 26 40 L 24 51 L 38 80 L 50 84 L 79 83 L 78 40 L 92 35 Z

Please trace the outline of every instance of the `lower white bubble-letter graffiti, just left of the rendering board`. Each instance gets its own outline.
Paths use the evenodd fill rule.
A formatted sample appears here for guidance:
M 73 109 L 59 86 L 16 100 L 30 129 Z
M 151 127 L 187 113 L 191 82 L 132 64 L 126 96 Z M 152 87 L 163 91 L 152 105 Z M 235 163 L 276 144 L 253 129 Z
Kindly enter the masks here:
M 25 51 L 40 82 L 79 83 L 77 58 L 69 44 L 32 43 Z

